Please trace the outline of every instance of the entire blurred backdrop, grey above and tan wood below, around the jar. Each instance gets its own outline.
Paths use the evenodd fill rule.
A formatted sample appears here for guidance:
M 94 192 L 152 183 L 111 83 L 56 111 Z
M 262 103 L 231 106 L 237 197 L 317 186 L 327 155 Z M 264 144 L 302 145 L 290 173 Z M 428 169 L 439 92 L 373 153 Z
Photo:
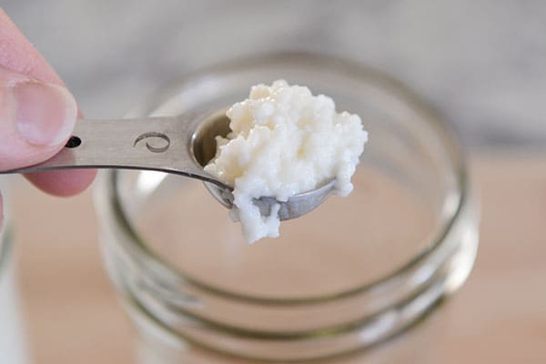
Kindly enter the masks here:
M 483 212 L 476 268 L 436 318 L 440 332 L 429 335 L 434 345 L 420 362 L 546 362 L 546 2 L 3 0 L 2 7 L 88 118 L 124 116 L 188 72 L 276 50 L 341 56 L 398 77 L 460 132 Z M 131 329 L 100 264 L 89 193 L 61 200 L 17 184 L 12 205 L 35 362 L 133 362 Z M 0 363 L 10 363 L 1 351 Z

